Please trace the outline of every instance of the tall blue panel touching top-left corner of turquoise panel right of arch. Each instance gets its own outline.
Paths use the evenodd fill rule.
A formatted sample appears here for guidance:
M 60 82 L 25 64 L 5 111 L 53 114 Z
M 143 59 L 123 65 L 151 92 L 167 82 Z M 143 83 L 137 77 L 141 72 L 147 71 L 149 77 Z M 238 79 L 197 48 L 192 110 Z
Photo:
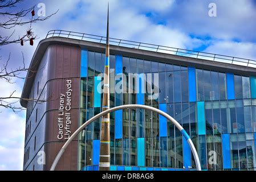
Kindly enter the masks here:
M 196 102 L 196 69 L 189 67 L 189 102 Z

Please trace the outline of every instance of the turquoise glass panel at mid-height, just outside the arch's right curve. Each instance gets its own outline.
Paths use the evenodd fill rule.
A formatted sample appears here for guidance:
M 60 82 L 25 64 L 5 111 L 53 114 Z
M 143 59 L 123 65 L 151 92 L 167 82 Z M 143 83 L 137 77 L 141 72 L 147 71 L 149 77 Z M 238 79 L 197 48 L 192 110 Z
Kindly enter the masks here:
M 204 102 L 197 102 L 198 135 L 205 135 L 205 107 Z

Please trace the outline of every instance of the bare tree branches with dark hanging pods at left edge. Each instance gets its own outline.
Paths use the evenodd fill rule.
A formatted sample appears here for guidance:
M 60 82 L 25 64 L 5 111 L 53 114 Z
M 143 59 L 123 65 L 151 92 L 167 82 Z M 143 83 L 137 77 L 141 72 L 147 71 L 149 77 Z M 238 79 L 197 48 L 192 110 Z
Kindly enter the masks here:
M 19 5 L 23 3 L 22 0 L 0 0 L 0 30 L 6 30 L 10 31 L 9 35 L 2 35 L 0 31 L 0 47 L 6 46 L 8 44 L 13 43 L 21 43 L 21 46 L 23 46 L 23 43 L 30 42 L 30 45 L 32 46 L 33 40 L 37 39 L 36 34 L 32 31 L 32 24 L 40 21 L 47 20 L 51 18 L 52 15 L 55 15 L 58 10 L 46 17 L 35 17 L 35 5 L 29 7 L 28 9 L 19 9 Z M 28 29 L 26 29 L 25 32 L 17 32 L 15 27 L 17 26 L 25 26 L 28 25 Z M 15 38 L 14 36 L 18 37 Z M 1 52 L 2 53 L 2 52 Z M 2 59 L 2 55 L 0 55 L 0 60 Z M 16 68 L 11 68 L 9 66 L 9 62 L 11 60 L 11 52 L 7 56 L 7 60 L 5 61 L 5 64 L 0 67 L 0 79 L 5 80 L 7 84 L 14 84 L 15 79 L 25 79 L 25 74 L 30 71 L 32 72 L 32 76 L 34 76 L 34 73 L 38 72 L 38 70 L 32 70 L 34 69 L 34 66 L 30 68 L 26 67 L 25 65 L 25 58 L 22 52 L 22 64 L 17 65 Z M 43 68 L 42 68 L 43 69 Z M 30 77 L 32 77 L 30 75 Z M 27 102 L 36 102 L 38 104 L 47 102 L 51 100 L 51 97 L 49 98 L 20 98 L 15 96 L 16 90 L 10 93 L 7 97 L 0 96 L 0 107 L 4 107 L 6 109 L 12 110 L 14 113 L 18 113 L 19 111 L 25 110 L 22 106 L 19 106 L 18 102 L 19 100 L 24 100 Z

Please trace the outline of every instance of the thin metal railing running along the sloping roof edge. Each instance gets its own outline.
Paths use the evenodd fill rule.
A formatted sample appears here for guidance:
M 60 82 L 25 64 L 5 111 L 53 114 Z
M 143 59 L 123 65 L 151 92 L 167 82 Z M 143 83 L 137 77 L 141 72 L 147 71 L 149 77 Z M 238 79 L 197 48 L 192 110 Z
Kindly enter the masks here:
M 84 34 L 80 32 L 72 32 L 72 31 L 65 31 L 65 30 L 50 30 L 48 31 L 46 38 L 55 37 L 55 36 L 63 37 L 63 38 L 78 39 L 78 40 L 87 40 L 87 41 L 96 42 L 96 43 L 106 42 L 105 36 Z M 235 65 L 242 65 L 245 67 L 256 68 L 255 60 L 244 59 L 241 57 L 218 55 L 214 53 L 192 51 L 188 49 L 174 48 L 174 47 L 168 47 L 168 46 L 159 46 L 155 44 L 141 43 L 141 42 L 135 42 L 131 40 L 116 39 L 116 38 L 109 38 L 109 44 L 114 46 L 123 46 L 123 47 L 135 48 L 135 49 L 143 49 L 147 51 L 169 53 L 171 55 L 193 57 L 196 59 L 205 59 L 205 60 L 216 61 L 221 63 L 229 63 L 229 64 L 235 64 Z

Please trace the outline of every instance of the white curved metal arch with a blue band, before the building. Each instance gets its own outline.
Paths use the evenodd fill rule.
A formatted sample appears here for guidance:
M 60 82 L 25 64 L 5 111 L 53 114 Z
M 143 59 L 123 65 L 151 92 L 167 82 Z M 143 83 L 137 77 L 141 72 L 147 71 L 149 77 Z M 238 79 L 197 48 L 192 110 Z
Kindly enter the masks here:
M 74 139 L 76 137 L 76 135 L 78 135 L 80 133 L 80 131 L 82 131 L 87 125 L 89 125 L 91 122 L 95 121 L 95 119 L 102 117 L 105 114 L 111 113 L 112 111 L 116 111 L 116 110 L 120 110 L 120 109 L 145 109 L 145 110 L 151 110 L 151 111 L 155 111 L 158 114 L 163 115 L 165 118 L 169 119 L 176 127 L 178 130 L 180 130 L 181 134 L 186 138 L 186 140 L 189 143 L 190 149 L 192 150 L 193 156 L 194 156 L 194 160 L 196 162 L 196 167 L 198 171 L 201 171 L 201 165 L 200 165 L 200 160 L 198 158 L 198 154 L 196 151 L 196 148 L 194 147 L 194 144 L 192 142 L 192 140 L 190 139 L 188 133 L 186 133 L 186 131 L 183 129 L 183 127 L 175 120 L 173 119 L 169 114 L 166 114 L 164 111 L 161 111 L 159 109 L 156 109 L 155 107 L 151 107 L 151 106 L 145 106 L 145 105 L 138 105 L 138 104 L 131 104 L 131 105 L 121 105 L 121 106 L 116 106 L 116 107 L 112 107 L 111 109 L 102 111 L 101 113 L 95 115 L 94 117 L 92 117 L 91 119 L 89 119 L 87 122 L 83 123 L 82 126 L 80 126 L 75 132 L 74 134 L 71 135 L 71 137 L 66 141 L 66 143 L 64 143 L 62 149 L 59 151 L 58 155 L 56 156 L 56 158 L 54 159 L 54 162 L 52 163 L 52 166 L 50 168 L 50 171 L 54 171 L 57 163 L 59 162 L 60 157 L 62 156 L 62 154 L 64 153 L 64 151 L 66 150 L 68 144 L 71 143 L 72 139 Z

